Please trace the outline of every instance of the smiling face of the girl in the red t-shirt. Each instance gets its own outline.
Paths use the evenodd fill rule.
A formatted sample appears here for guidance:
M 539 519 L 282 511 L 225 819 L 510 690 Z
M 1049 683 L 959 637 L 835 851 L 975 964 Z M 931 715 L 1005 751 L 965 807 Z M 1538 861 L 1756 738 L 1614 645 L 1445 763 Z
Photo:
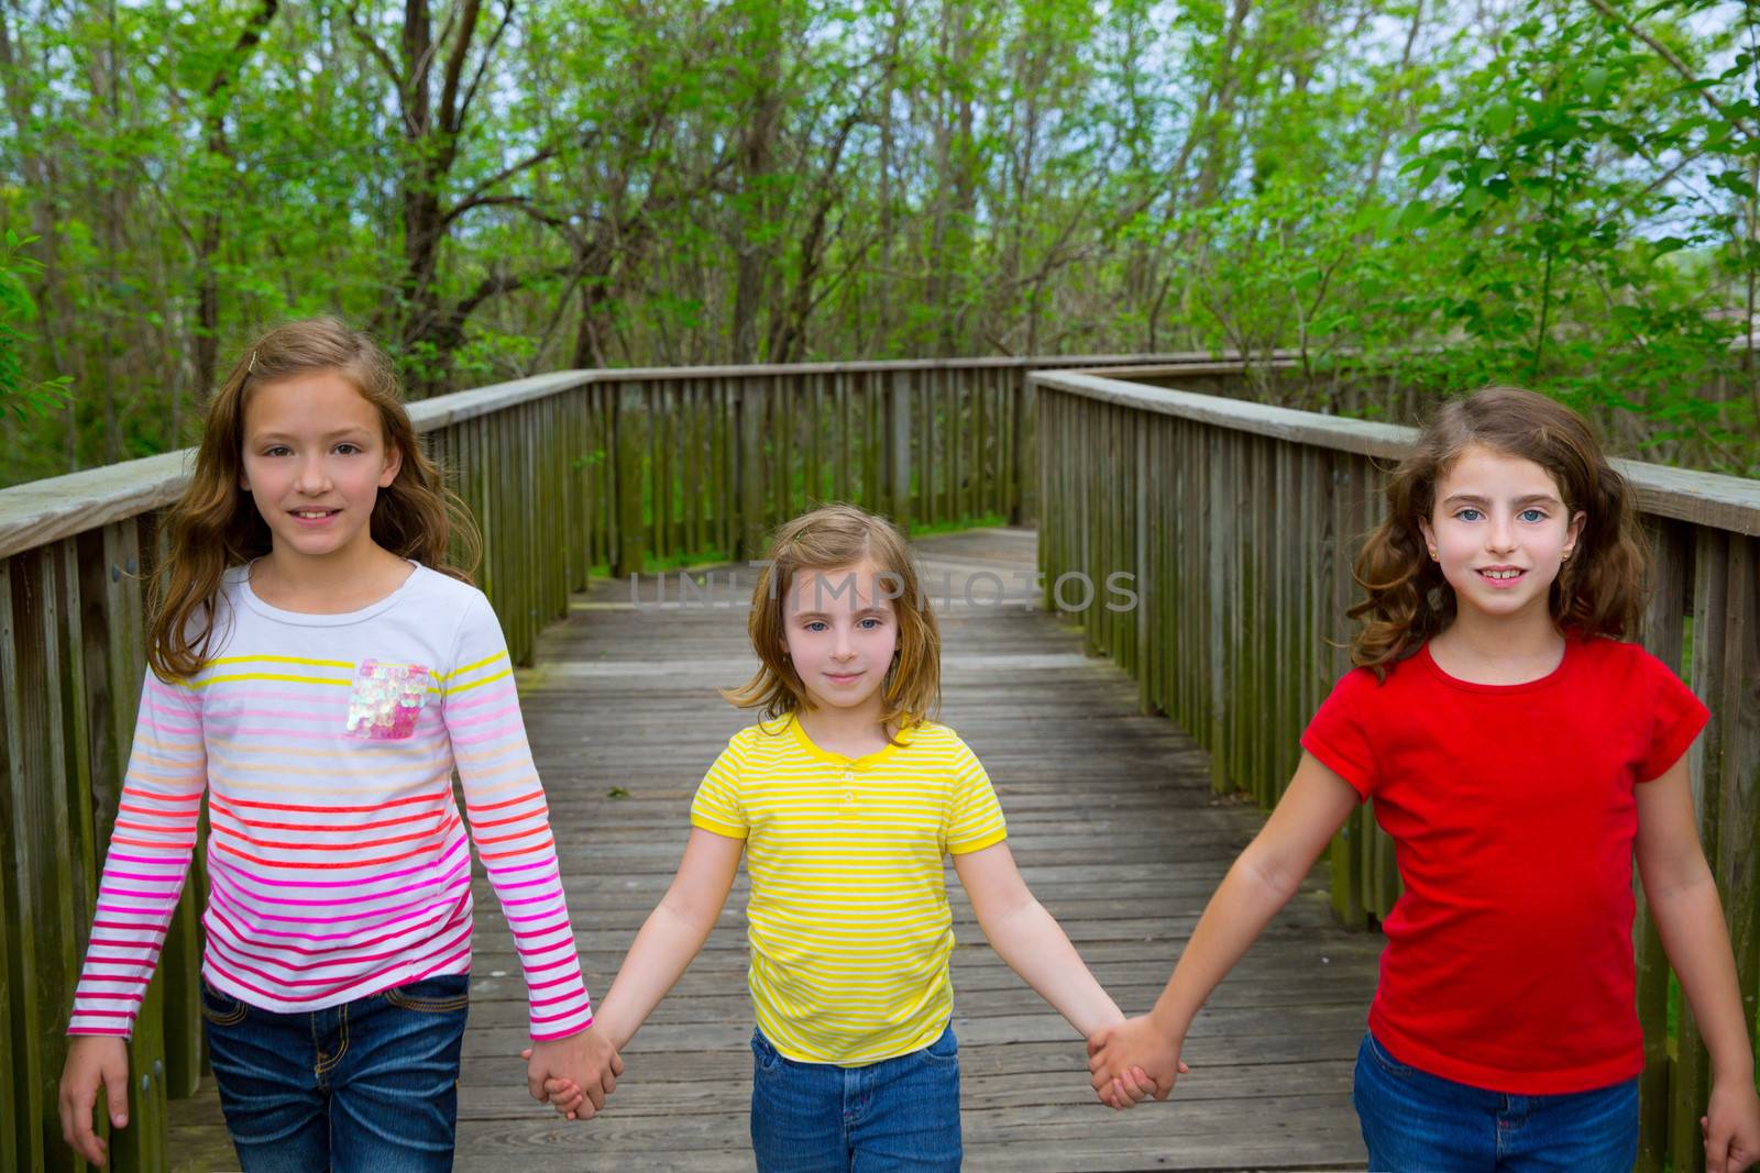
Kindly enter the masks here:
M 1436 505 L 1419 526 L 1461 617 L 1549 617 L 1552 580 L 1584 517 L 1533 461 L 1473 445 L 1436 480 Z

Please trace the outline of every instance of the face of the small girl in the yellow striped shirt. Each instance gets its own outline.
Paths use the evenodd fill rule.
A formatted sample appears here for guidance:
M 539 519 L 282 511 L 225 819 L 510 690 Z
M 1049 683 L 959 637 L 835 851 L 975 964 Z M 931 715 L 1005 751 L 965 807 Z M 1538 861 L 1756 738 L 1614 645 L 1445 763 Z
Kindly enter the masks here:
M 898 651 L 891 580 L 862 559 L 801 570 L 783 607 L 783 645 L 815 709 L 880 712 L 880 686 Z

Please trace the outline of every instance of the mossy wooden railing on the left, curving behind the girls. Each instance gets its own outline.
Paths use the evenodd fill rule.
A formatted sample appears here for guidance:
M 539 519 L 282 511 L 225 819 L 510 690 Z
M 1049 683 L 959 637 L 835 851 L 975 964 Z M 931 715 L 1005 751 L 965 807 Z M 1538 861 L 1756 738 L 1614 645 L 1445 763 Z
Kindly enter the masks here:
M 1160 361 L 1202 355 L 1158 355 Z M 1030 519 L 1026 373 L 1139 355 L 565 371 L 412 404 L 484 533 L 517 663 L 595 566 L 755 556 L 827 498 L 906 526 Z M 1227 364 L 1223 364 L 1227 368 Z M 1236 364 L 1236 369 L 1239 364 Z M 55 1087 L 144 672 L 143 582 L 188 454 L 0 491 L 0 1168 L 72 1162 Z M 121 1169 L 164 1168 L 202 1067 L 201 851 L 132 1041 Z

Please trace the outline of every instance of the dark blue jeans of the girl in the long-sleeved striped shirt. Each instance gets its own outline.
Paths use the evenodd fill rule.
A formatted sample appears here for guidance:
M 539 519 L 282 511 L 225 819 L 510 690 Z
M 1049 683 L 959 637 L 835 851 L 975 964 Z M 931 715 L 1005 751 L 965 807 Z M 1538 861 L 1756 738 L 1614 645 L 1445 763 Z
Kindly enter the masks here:
M 245 1173 L 452 1168 L 470 978 L 278 1015 L 202 983 L 220 1110 Z

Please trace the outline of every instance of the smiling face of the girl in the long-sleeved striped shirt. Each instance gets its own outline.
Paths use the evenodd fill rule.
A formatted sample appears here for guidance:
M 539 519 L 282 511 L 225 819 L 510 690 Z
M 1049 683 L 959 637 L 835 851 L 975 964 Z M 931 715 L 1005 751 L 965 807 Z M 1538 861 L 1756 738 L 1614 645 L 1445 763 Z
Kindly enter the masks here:
M 239 487 L 269 524 L 276 557 L 336 557 L 371 545 L 373 503 L 398 477 L 378 410 L 336 371 L 253 389 Z

